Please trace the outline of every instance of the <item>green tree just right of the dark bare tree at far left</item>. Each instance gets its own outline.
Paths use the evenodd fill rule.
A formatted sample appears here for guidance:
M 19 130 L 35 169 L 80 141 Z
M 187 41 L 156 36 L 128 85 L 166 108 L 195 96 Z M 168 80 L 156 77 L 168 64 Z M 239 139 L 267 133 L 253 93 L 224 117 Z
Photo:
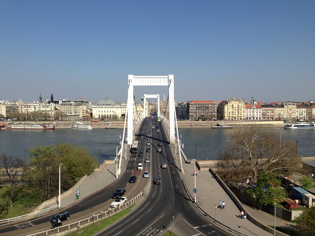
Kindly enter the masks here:
M 59 191 L 59 164 L 56 148 L 38 144 L 30 149 L 30 187 L 36 191 L 37 198 L 46 201 Z

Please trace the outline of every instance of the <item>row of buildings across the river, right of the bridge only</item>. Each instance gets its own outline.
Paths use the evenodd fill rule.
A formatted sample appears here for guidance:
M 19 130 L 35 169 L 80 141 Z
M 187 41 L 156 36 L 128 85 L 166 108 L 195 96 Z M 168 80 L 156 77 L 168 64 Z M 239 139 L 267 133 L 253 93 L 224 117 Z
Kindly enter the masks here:
M 229 98 L 225 101 L 187 101 L 178 103 L 176 115 L 187 120 L 251 120 L 284 121 L 315 119 L 314 102 L 257 102 L 252 96 L 250 103 L 244 99 Z

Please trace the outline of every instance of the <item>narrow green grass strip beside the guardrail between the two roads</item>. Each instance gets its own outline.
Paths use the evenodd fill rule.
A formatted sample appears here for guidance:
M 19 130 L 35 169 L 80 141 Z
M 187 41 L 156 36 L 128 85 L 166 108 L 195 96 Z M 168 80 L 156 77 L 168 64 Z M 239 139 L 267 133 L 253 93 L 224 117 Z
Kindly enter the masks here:
M 67 236 L 91 236 L 95 233 L 100 232 L 101 230 L 105 229 L 107 226 L 115 223 L 117 220 L 122 218 L 123 216 L 127 215 L 129 212 L 132 211 L 132 207 L 135 206 L 135 203 L 132 204 L 130 207 L 125 208 L 124 211 L 119 212 L 118 214 L 111 215 L 111 217 L 107 217 L 102 221 L 98 221 L 93 225 L 89 225 L 87 227 L 80 228 L 80 231 L 74 231 L 72 233 L 68 233 Z M 174 234 L 173 234 L 174 235 Z

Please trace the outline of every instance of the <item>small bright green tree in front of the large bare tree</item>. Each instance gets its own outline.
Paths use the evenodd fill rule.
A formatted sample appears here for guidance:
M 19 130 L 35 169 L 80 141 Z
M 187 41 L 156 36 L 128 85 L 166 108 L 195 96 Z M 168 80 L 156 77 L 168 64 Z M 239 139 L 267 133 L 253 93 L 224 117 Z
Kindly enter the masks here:
M 259 172 L 257 187 L 247 190 L 247 194 L 262 205 L 282 202 L 287 197 L 285 189 L 281 187 L 281 181 L 267 171 Z

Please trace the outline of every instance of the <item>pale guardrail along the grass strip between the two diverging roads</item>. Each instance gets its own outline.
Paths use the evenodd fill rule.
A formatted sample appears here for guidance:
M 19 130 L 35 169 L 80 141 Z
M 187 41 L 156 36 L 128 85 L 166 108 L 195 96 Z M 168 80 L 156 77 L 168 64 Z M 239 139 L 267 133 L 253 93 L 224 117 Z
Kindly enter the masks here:
M 134 203 L 136 200 L 138 200 L 140 197 L 143 196 L 143 194 L 146 191 L 142 191 L 139 195 L 137 195 L 135 198 L 129 200 L 128 202 L 124 203 L 121 206 L 118 206 L 116 208 L 110 209 L 108 211 L 100 211 L 98 214 L 93 214 L 89 218 L 83 219 L 81 221 L 77 221 L 65 226 L 61 226 L 54 229 L 49 229 L 43 232 L 39 233 L 32 233 L 26 236 L 48 236 L 48 235 L 63 235 L 65 233 L 70 233 L 75 230 L 79 230 L 80 227 L 88 226 L 90 224 L 94 224 L 95 222 L 98 222 L 100 220 L 103 220 L 104 218 L 110 217 L 112 214 L 117 214 L 120 211 L 123 211 L 126 207 L 129 207 L 132 203 Z

